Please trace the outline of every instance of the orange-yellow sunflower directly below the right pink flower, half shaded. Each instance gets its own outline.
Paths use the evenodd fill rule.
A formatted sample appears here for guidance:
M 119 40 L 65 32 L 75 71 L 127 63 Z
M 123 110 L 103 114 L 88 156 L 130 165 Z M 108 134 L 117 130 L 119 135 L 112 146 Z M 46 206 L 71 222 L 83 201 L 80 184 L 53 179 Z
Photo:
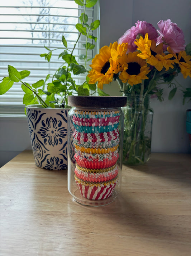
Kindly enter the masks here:
M 138 46 L 137 50 L 140 51 L 138 56 L 142 59 L 146 59 L 147 63 L 154 66 L 158 71 L 161 71 L 163 67 L 166 71 L 169 68 L 173 68 L 174 61 L 171 59 L 173 55 L 164 54 L 163 43 L 156 46 L 154 40 L 148 39 L 148 33 L 145 34 L 144 39 L 140 36 L 134 43 Z

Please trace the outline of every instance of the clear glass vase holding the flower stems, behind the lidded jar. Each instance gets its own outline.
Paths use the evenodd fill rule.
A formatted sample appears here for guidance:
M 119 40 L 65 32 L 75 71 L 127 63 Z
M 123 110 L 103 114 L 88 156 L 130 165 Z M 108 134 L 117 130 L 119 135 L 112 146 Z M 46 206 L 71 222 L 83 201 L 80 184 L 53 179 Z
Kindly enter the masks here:
M 123 163 L 142 165 L 151 154 L 153 109 L 149 95 L 128 95 L 124 111 Z

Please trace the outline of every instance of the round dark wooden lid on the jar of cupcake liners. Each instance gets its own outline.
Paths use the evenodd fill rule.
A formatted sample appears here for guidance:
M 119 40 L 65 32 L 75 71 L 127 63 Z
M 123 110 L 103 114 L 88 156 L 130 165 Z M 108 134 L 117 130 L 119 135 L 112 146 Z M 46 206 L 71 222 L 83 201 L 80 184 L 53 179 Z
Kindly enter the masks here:
M 126 96 L 68 96 L 71 107 L 118 108 L 126 105 Z

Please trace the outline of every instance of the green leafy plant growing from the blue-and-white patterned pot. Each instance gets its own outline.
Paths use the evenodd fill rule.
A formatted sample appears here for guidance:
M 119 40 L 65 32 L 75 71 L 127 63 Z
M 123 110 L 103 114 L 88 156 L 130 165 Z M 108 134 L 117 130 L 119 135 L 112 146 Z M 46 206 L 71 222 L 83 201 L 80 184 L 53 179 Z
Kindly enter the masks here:
M 51 75 L 48 74 L 46 79 L 40 79 L 34 84 L 30 85 L 24 81 L 24 78 L 30 75 L 30 71 L 23 70 L 18 71 L 15 67 L 8 65 L 9 76 L 4 77 L 0 83 L 0 94 L 5 94 L 14 83 L 20 82 L 24 91 L 23 104 L 41 104 L 44 108 L 68 108 L 67 98 L 68 95 L 92 95 L 96 93 L 96 85 L 89 84 L 89 78 L 86 77 L 86 81 L 83 84 L 76 84 L 73 75 L 80 75 L 88 73 L 87 70 L 87 52 L 95 47 L 93 42 L 96 42 L 97 37 L 93 35 L 93 31 L 100 26 L 100 21 L 88 23 L 89 19 L 86 14 L 86 8 L 91 8 L 97 3 L 97 0 L 74 0 L 76 4 L 83 6 L 84 12 L 81 14 L 79 20 L 80 23 L 76 24 L 78 30 L 78 38 L 73 45 L 73 49 L 68 48 L 67 40 L 62 36 L 62 48 L 49 49 L 46 46 L 48 53 L 40 54 L 40 57 L 45 58 L 48 62 L 51 61 L 52 52 L 55 50 L 63 49 L 63 52 L 59 54 L 58 59 L 63 60 L 62 65 L 57 71 Z M 78 64 L 74 55 L 74 50 L 77 46 L 81 36 L 85 36 L 85 54 L 80 56 L 84 65 Z M 99 92 L 98 92 L 99 93 Z

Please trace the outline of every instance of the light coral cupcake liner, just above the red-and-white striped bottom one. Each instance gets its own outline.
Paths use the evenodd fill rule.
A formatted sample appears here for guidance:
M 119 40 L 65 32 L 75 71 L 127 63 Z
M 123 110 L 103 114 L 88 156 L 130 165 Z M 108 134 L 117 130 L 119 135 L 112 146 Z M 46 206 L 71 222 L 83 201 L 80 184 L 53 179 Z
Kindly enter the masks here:
M 75 179 L 76 177 L 78 179 L 89 181 L 89 182 L 104 182 L 114 179 L 118 175 L 118 167 L 116 166 L 113 170 L 108 172 L 100 172 L 100 173 L 94 173 L 94 172 L 83 172 L 79 170 L 77 167 L 75 169 Z

